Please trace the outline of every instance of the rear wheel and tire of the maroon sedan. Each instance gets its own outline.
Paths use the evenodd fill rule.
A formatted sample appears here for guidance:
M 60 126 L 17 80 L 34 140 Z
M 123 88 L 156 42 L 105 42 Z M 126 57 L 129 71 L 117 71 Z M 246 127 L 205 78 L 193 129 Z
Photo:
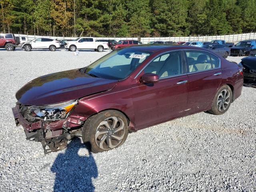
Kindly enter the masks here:
M 214 100 L 212 101 L 212 109 L 208 110 L 208 112 L 214 115 L 222 115 L 228 110 L 231 102 L 232 90 L 228 85 L 223 85 L 214 96 Z

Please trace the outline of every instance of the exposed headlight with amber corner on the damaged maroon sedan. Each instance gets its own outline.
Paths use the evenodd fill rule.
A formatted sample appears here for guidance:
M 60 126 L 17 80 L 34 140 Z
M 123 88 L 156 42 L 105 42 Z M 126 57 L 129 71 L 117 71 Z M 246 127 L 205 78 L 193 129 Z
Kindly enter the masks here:
M 37 119 L 56 120 L 66 119 L 69 112 L 76 106 L 76 101 L 67 101 L 45 106 L 29 106 L 29 114 Z

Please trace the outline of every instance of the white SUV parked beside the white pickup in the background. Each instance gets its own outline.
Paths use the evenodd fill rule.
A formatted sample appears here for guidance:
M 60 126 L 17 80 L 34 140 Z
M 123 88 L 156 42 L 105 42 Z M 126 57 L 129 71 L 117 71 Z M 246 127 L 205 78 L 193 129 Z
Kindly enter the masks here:
M 49 49 L 55 51 L 60 48 L 60 42 L 52 38 L 35 38 L 31 41 L 24 42 L 22 48 L 25 51 L 31 51 L 32 49 Z

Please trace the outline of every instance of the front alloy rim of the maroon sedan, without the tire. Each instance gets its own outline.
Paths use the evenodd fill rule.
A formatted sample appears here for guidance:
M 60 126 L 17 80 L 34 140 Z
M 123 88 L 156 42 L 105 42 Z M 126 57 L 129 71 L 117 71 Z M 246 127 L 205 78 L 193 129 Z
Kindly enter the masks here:
M 97 146 L 103 150 L 110 150 L 118 146 L 125 135 L 124 121 L 112 116 L 102 121 L 96 129 L 94 138 Z

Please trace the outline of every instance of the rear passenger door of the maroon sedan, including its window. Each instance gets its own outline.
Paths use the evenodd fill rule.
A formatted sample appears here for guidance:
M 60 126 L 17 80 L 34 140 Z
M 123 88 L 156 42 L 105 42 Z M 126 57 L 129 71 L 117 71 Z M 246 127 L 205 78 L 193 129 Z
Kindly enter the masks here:
M 212 103 L 222 80 L 220 59 L 204 51 L 184 51 L 188 67 L 187 114 L 204 111 Z

